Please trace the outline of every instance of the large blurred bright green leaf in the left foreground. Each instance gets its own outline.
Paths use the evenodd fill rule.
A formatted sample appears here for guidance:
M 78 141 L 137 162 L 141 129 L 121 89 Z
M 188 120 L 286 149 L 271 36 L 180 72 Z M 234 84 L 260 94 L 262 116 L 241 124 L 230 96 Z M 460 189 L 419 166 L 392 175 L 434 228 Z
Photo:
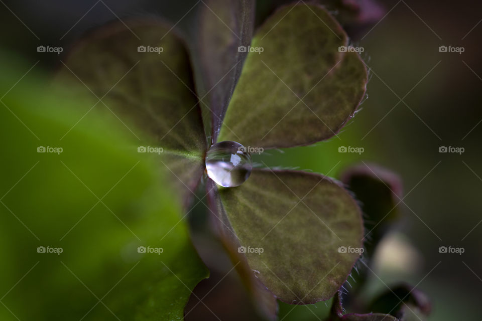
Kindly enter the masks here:
M 0 319 L 182 319 L 191 290 L 208 272 L 167 170 L 156 156 L 138 153 L 137 140 L 117 120 L 97 110 L 84 115 L 82 100 L 43 97 L 47 91 L 36 89 L 45 79 L 27 86 L 29 75 L 10 91 L 20 76 L 6 69 Z M 139 246 L 163 252 L 139 253 Z

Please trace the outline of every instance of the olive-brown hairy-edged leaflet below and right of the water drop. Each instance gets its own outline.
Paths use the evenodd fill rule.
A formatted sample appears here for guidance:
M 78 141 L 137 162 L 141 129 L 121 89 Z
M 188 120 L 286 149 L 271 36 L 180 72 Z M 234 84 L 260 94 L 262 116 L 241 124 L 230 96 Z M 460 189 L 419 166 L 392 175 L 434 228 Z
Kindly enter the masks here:
M 254 170 L 236 188 L 221 189 L 225 226 L 238 251 L 274 295 L 307 304 L 333 296 L 360 248 L 360 210 L 331 179 L 304 172 Z M 228 232 L 226 232 L 227 234 Z M 246 249 L 246 251 L 244 251 Z

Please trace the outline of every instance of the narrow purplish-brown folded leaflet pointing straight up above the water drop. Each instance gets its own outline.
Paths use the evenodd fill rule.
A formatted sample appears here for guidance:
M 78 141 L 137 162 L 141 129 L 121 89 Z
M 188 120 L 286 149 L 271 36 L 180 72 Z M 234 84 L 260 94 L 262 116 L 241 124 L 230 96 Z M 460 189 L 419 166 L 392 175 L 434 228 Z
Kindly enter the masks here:
M 194 51 L 196 83 L 199 95 L 208 98 L 202 107 L 210 111 L 213 143 L 247 56 L 238 49 L 251 43 L 254 16 L 254 0 L 208 0 L 200 9 Z

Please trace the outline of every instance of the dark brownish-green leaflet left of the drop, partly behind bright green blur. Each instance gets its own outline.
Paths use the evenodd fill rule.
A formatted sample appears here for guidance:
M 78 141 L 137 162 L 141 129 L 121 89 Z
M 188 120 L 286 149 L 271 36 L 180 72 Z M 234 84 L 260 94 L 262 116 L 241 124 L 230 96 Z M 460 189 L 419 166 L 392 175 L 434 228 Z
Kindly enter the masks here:
M 160 164 L 170 169 L 187 198 L 204 170 L 206 150 L 188 52 L 160 21 L 125 22 L 127 26 L 112 23 L 80 41 L 57 81 L 89 94 L 91 106 L 125 124 L 140 146 L 162 147 L 166 156 Z

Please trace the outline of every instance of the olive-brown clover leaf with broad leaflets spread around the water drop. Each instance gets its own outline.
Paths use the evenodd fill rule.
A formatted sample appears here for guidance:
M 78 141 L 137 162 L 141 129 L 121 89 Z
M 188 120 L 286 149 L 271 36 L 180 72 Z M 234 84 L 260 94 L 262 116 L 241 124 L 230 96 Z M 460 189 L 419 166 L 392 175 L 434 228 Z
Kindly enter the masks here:
M 340 49 L 349 46 L 347 36 L 322 7 L 282 7 L 251 42 L 252 2 L 239 7 L 241 18 L 229 10 L 223 15 L 238 34 L 231 30 L 229 38 L 217 38 L 217 28 L 200 28 L 209 34 L 198 45 L 215 39 L 222 54 L 186 48 L 174 26 L 135 18 L 81 41 L 57 78 L 89 89 L 141 145 L 163 148 L 159 166 L 172 174 L 186 211 L 205 170 L 208 137 L 201 108 L 211 110 L 213 144 L 292 147 L 335 135 L 365 93 L 365 65 L 358 54 Z M 231 62 L 233 71 L 226 67 Z M 275 298 L 297 304 L 326 300 L 346 280 L 359 252 L 343 249 L 362 248 L 363 222 L 338 182 L 302 171 L 255 169 L 239 187 L 220 188 L 209 178 L 206 187 L 217 231 L 233 262 L 243 262 L 238 271 L 268 306 L 268 316 L 276 311 Z

